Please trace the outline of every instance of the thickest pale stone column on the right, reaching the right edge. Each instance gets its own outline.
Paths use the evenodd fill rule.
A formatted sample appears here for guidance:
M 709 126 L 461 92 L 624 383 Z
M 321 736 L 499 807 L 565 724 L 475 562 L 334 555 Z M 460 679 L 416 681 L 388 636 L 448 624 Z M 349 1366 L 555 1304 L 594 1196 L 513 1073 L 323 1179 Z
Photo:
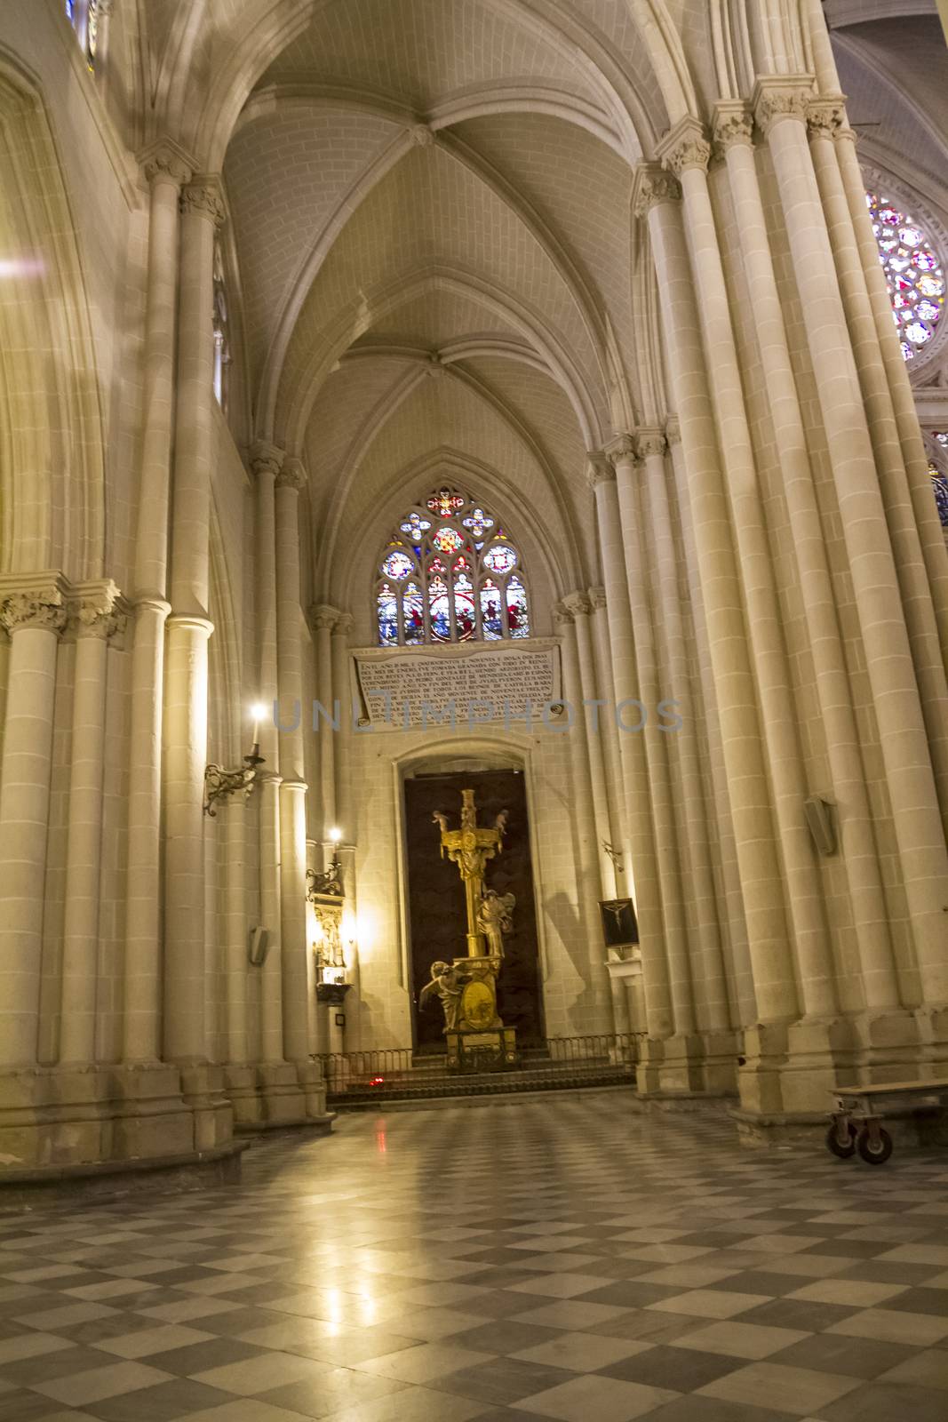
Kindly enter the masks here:
M 800 84 L 758 85 L 833 464 L 866 671 L 927 1007 L 948 1003 L 945 849 L 935 776 L 878 472 L 806 134 Z

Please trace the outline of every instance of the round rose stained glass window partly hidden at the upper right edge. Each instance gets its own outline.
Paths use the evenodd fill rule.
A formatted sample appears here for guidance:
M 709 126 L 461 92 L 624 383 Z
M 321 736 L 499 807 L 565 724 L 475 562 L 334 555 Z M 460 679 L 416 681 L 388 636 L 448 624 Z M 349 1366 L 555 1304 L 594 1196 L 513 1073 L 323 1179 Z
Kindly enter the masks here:
M 881 191 L 866 202 L 905 360 L 931 341 L 945 306 L 945 273 L 928 233 Z

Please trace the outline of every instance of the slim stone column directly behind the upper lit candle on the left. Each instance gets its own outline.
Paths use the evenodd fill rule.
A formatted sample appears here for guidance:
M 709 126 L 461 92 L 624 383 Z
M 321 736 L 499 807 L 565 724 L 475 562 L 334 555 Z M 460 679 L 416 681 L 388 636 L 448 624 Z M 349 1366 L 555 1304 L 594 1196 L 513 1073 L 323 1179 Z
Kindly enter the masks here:
M 256 596 L 257 641 L 260 647 L 259 693 L 266 715 L 260 724 L 257 772 L 260 795 L 260 921 L 269 934 L 267 956 L 260 968 L 260 1052 L 264 1062 L 283 1061 L 283 974 L 280 914 L 280 737 L 276 728 L 277 675 L 277 563 L 276 563 L 276 478 L 283 466 L 283 449 L 253 447 L 250 466 L 256 479 Z

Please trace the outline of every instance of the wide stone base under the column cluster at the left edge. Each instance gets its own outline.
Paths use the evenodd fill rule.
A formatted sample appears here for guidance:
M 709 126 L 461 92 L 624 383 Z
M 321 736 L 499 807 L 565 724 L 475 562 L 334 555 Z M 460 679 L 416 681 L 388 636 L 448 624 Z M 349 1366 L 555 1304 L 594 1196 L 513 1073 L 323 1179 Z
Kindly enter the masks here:
M 175 1065 L 37 1066 L 0 1075 L 0 1180 L 23 1170 L 193 1156 L 232 1140 L 229 1103 Z M 185 1079 L 186 1078 L 186 1079 Z

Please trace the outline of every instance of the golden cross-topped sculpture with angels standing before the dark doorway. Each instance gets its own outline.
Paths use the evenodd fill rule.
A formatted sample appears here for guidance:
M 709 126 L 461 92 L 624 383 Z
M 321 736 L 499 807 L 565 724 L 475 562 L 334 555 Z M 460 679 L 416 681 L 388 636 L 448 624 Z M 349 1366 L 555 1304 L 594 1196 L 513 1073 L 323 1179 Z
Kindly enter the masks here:
M 431 981 L 419 994 L 419 1005 L 425 1007 L 435 995 L 441 1000 L 449 1065 L 468 1066 L 488 1057 L 493 1065 L 512 1065 L 516 1061 L 515 1032 L 497 1015 L 497 973 L 503 961 L 503 934 L 513 929 L 516 899 L 483 886 L 488 860 L 503 849 L 507 811 L 500 811 L 488 829 L 478 825 L 475 792 L 462 791 L 460 799 L 459 829 L 448 828 L 442 811 L 435 811 L 432 820 L 441 830 L 441 855 L 446 853 L 458 866 L 465 886 L 468 956 L 455 958 L 453 967 L 432 963 Z

